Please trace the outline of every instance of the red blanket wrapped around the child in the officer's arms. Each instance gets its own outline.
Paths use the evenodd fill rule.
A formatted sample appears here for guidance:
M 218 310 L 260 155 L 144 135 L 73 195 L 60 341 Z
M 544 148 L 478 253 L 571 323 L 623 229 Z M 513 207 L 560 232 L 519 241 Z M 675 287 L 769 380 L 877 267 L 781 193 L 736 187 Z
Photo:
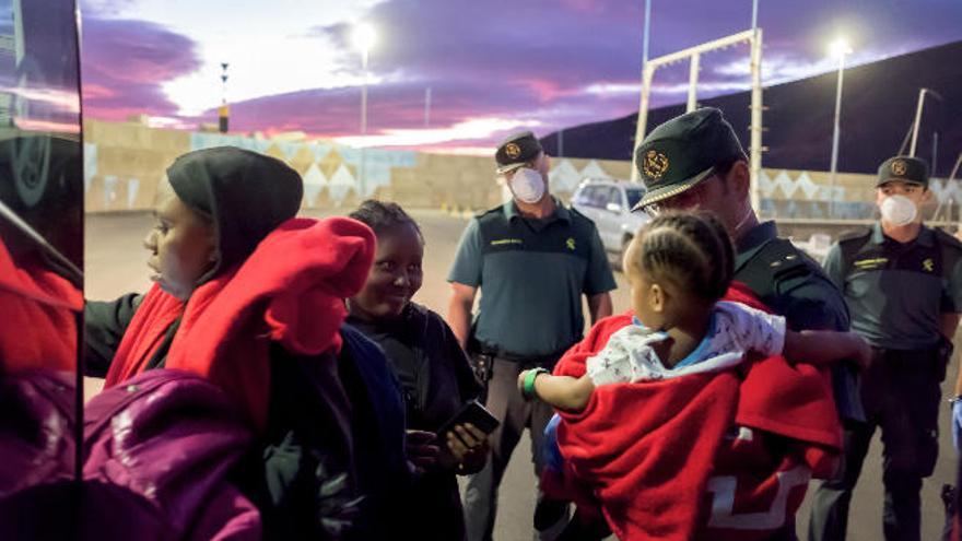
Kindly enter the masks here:
M 726 299 L 764 309 L 739 284 Z M 555 374 L 582 376 L 585 361 L 631 319 L 629 313 L 599 321 L 562 357 Z M 771 511 L 782 505 L 779 490 L 789 490 L 781 526 L 800 504 L 803 483 L 795 478 L 812 470 L 831 473 L 841 447 L 828 376 L 809 365 L 789 366 L 782 357 L 723 373 L 602 386 L 584 412 L 559 413 L 558 442 L 567 472 L 577 478 L 575 484 L 590 489 L 621 540 L 687 540 L 696 533 L 751 539 L 759 529 L 724 517 L 759 510 L 759 505 Z M 743 434 L 748 440 L 736 437 L 740 426 L 763 431 L 764 437 L 751 437 L 753 431 Z M 759 458 L 756 444 L 773 436 L 791 445 L 765 456 L 766 461 L 747 460 L 753 454 Z M 805 487 L 800 491 L 803 496 Z M 764 531 L 772 529 L 766 524 Z

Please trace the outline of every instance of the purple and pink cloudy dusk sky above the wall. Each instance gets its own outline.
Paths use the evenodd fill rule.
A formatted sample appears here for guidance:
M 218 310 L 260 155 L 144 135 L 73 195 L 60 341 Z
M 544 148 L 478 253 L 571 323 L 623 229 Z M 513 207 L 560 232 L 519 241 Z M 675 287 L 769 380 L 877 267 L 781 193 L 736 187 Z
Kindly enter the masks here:
M 760 0 L 763 84 L 962 39 L 962 0 Z M 644 0 L 80 0 L 83 107 L 163 127 L 215 122 L 230 62 L 232 131 L 304 131 L 359 144 L 369 23 L 375 146 L 490 153 L 511 131 L 547 134 L 638 106 Z M 751 26 L 750 0 L 653 0 L 650 57 Z M 747 45 L 702 58 L 700 97 L 749 86 Z M 683 102 L 688 63 L 659 70 L 653 106 Z M 430 126 L 424 127 L 425 90 Z

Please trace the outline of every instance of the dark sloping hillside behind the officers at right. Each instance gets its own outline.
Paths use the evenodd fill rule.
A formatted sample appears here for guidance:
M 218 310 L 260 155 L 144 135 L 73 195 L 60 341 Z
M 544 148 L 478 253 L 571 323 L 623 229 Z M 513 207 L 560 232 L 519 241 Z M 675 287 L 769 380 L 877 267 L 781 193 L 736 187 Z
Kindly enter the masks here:
M 829 169 L 835 82 L 836 73 L 831 72 L 764 89 L 765 167 Z M 943 101 L 926 97 L 916 155 L 931 162 L 932 133 L 938 132 L 935 173 L 948 176 L 962 152 L 962 42 L 845 70 L 838 170 L 875 173 L 899 151 L 915 118 L 919 87 L 938 92 Z M 699 104 L 720 108 L 748 149 L 749 92 Z M 684 104 L 652 109 L 648 131 L 682 113 Z M 630 160 L 636 119 L 633 114 L 565 129 L 565 156 Z M 549 154 L 556 153 L 556 132 L 541 142 Z

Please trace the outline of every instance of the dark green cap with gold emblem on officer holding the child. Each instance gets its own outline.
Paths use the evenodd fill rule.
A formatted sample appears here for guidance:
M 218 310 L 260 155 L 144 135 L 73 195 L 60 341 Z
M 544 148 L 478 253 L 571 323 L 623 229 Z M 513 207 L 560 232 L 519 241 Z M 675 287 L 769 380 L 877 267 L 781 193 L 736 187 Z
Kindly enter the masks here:
M 738 160 L 748 158 L 719 109 L 703 107 L 672 118 L 635 151 L 647 191 L 632 210 L 674 197 L 708 178 L 715 165 Z

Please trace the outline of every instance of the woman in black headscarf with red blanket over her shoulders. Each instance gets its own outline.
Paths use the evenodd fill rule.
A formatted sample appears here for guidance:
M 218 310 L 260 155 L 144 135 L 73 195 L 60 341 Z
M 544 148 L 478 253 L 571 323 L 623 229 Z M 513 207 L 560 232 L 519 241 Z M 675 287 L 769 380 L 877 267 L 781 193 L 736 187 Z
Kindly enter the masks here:
M 353 220 L 295 219 L 302 189 L 255 152 L 177 158 L 144 239 L 154 285 L 86 304 L 85 361 L 107 388 L 155 368 L 215 384 L 258 438 L 235 482 L 267 537 L 324 539 L 341 522 L 322 516 L 320 495 L 348 494 L 352 468 L 337 373 L 344 298 L 364 284 L 374 235 Z

